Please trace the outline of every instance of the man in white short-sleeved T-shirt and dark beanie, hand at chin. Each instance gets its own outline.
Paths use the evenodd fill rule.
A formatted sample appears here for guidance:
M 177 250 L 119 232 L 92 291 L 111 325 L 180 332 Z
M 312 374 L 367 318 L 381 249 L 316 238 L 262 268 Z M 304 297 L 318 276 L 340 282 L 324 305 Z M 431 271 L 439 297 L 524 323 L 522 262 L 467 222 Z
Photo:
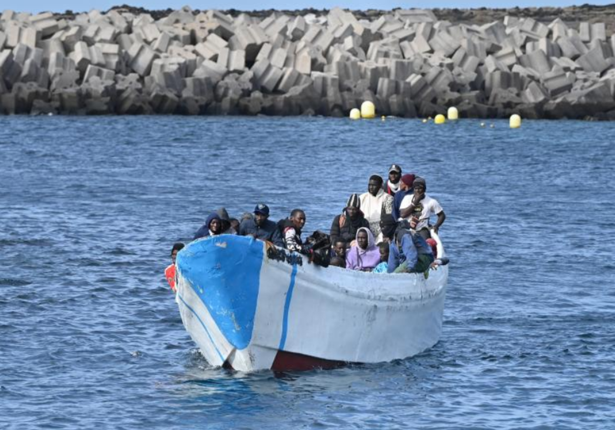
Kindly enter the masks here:
M 423 238 L 429 239 L 431 234 L 429 233 L 429 217 L 436 215 L 438 220 L 432 225 L 432 230 L 438 233 L 440 225 L 446 219 L 446 214 L 442 210 L 442 206 L 435 198 L 429 197 L 425 192 L 427 190 L 427 183 L 423 178 L 416 178 L 413 187 L 415 189 L 414 194 L 405 196 L 400 205 L 400 221 L 405 219 L 410 221 L 410 217 L 413 213 L 420 213 L 419 222 L 416 225 L 416 232 L 418 232 Z

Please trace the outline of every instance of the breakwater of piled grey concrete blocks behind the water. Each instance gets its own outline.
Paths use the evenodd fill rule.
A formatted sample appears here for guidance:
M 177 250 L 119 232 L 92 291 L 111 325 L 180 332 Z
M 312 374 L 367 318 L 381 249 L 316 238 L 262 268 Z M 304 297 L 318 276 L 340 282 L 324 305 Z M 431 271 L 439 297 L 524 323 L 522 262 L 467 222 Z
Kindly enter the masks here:
M 604 23 L 560 19 L 5 10 L 0 112 L 615 119 L 614 54 Z

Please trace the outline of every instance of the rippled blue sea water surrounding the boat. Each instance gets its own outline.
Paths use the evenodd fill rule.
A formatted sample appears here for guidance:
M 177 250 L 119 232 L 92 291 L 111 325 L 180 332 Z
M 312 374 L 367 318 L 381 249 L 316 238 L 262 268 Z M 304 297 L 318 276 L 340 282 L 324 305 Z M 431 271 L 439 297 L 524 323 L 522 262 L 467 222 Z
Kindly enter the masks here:
M 480 122 L 0 117 L 0 428 L 615 428 L 615 126 Z M 173 242 L 258 202 L 328 229 L 391 163 L 447 215 L 440 342 L 211 367 L 164 280 Z

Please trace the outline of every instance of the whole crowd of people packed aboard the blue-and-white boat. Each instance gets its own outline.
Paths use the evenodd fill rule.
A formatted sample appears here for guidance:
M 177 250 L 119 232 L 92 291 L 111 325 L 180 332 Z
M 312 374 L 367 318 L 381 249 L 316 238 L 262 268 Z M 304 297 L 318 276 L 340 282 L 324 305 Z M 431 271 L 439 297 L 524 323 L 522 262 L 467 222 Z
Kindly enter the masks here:
M 438 258 L 437 243 L 431 232 L 438 232 L 446 215 L 438 203 L 427 195 L 427 182 L 412 173 L 402 174 L 401 166 L 389 168 L 388 179 L 370 176 L 367 192 L 352 194 L 341 214 L 331 222 L 330 233 L 314 232 L 306 239 L 303 209 L 294 209 L 278 222 L 269 219 L 269 206 L 258 203 L 252 213 L 241 219 L 230 218 L 226 209 L 212 212 L 194 235 L 232 234 L 269 241 L 279 248 L 308 256 L 309 262 L 327 267 L 344 267 L 376 273 L 421 273 L 437 265 L 448 264 Z M 435 217 L 433 225 L 431 218 Z M 175 289 L 175 256 L 183 243 L 173 244 L 173 264 L 165 277 Z

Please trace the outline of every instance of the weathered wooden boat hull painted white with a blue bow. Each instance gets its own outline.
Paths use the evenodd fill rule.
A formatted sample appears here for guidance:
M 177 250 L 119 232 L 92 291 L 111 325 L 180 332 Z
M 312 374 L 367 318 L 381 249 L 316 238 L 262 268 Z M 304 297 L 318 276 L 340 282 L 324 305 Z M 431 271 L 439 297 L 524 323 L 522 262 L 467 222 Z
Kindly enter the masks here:
M 270 243 L 220 235 L 179 252 L 176 300 L 212 365 L 328 368 L 407 358 L 435 345 L 448 266 L 428 273 L 323 268 Z

